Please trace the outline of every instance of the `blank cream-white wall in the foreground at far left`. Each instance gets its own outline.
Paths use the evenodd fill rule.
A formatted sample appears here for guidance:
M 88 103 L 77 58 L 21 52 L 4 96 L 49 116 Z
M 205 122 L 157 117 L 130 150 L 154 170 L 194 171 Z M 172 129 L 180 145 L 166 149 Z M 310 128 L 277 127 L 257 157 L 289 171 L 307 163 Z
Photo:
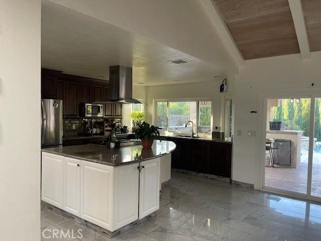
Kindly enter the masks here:
M 40 0 L 0 0 L 0 240 L 40 240 Z

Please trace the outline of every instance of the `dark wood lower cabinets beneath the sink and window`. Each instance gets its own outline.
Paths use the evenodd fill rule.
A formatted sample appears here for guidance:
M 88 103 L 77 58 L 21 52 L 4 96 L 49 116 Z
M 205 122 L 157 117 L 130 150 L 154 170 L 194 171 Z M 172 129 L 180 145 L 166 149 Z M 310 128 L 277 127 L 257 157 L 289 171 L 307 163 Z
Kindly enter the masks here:
M 231 177 L 232 144 L 165 138 L 176 144 L 172 167 L 222 177 Z

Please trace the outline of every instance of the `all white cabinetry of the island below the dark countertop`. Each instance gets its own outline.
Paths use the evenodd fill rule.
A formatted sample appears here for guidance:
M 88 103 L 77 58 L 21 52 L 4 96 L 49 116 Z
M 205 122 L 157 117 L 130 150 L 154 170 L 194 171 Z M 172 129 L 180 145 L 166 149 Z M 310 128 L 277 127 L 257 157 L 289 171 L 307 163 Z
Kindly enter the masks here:
M 160 159 L 141 162 L 140 175 L 138 166 L 112 167 L 43 152 L 41 198 L 115 231 L 159 208 Z

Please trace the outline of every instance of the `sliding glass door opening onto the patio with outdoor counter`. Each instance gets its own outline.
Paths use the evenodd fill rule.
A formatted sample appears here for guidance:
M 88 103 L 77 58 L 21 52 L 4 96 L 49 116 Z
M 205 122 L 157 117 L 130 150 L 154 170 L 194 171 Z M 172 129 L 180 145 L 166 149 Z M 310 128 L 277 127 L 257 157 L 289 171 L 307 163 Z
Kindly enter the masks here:
M 262 189 L 321 201 L 321 98 L 266 98 Z

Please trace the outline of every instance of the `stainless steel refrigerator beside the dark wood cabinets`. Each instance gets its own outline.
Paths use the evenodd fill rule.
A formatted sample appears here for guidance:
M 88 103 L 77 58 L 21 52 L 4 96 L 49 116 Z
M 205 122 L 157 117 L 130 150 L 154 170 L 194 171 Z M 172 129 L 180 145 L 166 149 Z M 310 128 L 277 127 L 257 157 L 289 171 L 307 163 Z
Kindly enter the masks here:
M 62 100 L 41 99 L 41 147 L 62 145 Z

